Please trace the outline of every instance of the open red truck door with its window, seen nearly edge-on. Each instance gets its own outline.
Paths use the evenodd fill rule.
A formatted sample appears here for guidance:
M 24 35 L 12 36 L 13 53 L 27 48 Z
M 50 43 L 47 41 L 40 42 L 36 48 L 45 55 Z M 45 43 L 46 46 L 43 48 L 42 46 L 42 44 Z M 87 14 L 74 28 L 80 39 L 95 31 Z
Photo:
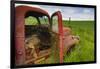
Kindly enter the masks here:
M 53 13 L 51 16 L 51 28 L 53 32 L 59 35 L 59 58 L 60 63 L 63 63 L 63 24 L 60 11 Z

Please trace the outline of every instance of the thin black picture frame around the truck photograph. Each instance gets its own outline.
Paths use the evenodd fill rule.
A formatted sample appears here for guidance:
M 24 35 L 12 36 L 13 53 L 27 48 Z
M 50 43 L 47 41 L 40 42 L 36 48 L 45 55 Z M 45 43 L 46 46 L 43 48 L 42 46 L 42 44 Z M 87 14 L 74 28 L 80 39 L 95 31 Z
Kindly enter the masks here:
M 54 6 L 72 6 L 72 7 L 86 7 L 94 8 L 95 25 L 94 25 L 94 61 L 88 62 L 72 62 L 72 63 L 56 63 L 56 64 L 40 64 L 40 65 L 15 65 L 15 3 L 20 4 L 36 4 L 36 5 L 54 5 Z M 76 65 L 76 64 L 90 64 L 96 63 L 96 6 L 95 5 L 81 5 L 81 4 L 65 4 L 65 3 L 50 3 L 50 2 L 35 2 L 35 1 L 11 1 L 11 68 L 27 68 L 27 67 L 44 67 L 44 66 L 60 66 L 60 65 Z

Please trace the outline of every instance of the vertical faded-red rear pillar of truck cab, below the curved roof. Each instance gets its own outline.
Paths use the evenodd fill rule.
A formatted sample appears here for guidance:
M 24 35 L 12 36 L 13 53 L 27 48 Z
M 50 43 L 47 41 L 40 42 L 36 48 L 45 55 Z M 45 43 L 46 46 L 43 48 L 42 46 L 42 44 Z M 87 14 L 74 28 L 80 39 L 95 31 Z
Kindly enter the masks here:
M 16 65 L 22 65 L 25 61 L 24 48 L 24 14 L 16 11 L 15 17 L 15 48 L 16 48 Z

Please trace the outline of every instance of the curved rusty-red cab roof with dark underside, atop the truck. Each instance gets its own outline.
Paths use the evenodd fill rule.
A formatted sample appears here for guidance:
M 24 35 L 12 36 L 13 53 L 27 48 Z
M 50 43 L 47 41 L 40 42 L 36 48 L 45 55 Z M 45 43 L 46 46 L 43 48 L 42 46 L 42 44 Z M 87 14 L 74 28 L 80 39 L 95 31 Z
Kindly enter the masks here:
M 22 6 L 17 6 L 15 10 L 17 13 L 24 14 L 25 17 L 27 17 L 27 16 L 41 17 L 43 15 L 49 17 L 48 12 L 46 12 L 43 9 L 37 8 L 37 7 L 30 7 L 30 6 L 22 5 Z

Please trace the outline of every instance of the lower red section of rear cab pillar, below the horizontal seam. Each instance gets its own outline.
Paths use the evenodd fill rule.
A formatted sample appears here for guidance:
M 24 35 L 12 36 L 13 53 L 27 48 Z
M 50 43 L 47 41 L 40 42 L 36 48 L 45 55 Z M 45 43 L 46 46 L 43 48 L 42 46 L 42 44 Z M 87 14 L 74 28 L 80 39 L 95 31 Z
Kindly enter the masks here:
M 22 65 L 25 62 L 24 38 L 16 37 L 16 65 Z

